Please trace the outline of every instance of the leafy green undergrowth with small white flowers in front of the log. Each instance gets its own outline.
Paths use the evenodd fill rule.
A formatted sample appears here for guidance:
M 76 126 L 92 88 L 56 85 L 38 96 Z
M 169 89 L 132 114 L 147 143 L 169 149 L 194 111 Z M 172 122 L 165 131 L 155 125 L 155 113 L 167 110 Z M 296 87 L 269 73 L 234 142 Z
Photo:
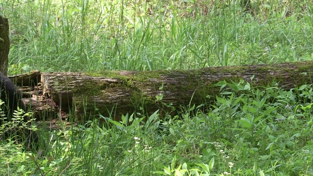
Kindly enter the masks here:
M 216 101 L 194 115 L 158 111 L 99 116 L 83 126 L 50 132 L 45 156 L 1 144 L 1 175 L 260 175 L 313 174 L 313 88 L 218 84 Z M 235 90 L 235 89 L 236 90 Z M 146 120 L 144 120 L 146 119 Z M 21 147 L 21 146 L 20 146 Z M 37 164 L 35 164 L 37 163 Z

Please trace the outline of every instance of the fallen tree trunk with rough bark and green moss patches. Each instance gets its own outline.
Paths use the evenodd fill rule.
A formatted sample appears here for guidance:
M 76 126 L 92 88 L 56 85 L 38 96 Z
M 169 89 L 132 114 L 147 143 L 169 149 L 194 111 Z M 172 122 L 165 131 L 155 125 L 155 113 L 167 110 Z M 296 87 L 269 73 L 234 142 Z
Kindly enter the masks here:
M 253 86 L 276 82 L 290 89 L 313 83 L 313 62 L 194 70 L 51 72 L 41 73 L 40 80 L 46 97 L 43 99 L 53 102 L 55 109 L 66 113 L 72 110 L 78 119 L 102 114 L 119 120 L 126 113 L 152 114 L 160 110 L 163 114 L 181 106 L 200 105 L 208 102 L 207 95 L 219 94 L 220 88 L 214 84 L 241 79 Z

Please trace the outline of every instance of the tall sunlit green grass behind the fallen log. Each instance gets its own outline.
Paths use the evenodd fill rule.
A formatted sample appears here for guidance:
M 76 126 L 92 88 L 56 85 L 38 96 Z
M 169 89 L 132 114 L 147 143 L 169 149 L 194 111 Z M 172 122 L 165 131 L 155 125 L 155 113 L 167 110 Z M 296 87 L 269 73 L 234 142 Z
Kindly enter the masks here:
M 192 69 L 313 59 L 310 1 L 1 0 L 10 73 Z

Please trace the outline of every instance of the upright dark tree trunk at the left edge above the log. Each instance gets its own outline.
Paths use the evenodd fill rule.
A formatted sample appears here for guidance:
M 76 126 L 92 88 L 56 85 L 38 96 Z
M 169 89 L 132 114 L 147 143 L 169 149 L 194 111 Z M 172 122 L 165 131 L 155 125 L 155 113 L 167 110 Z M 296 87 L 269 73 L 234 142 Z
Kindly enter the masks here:
M 4 75 L 7 75 L 8 72 L 9 50 L 9 22 L 7 18 L 0 16 L 0 71 Z

